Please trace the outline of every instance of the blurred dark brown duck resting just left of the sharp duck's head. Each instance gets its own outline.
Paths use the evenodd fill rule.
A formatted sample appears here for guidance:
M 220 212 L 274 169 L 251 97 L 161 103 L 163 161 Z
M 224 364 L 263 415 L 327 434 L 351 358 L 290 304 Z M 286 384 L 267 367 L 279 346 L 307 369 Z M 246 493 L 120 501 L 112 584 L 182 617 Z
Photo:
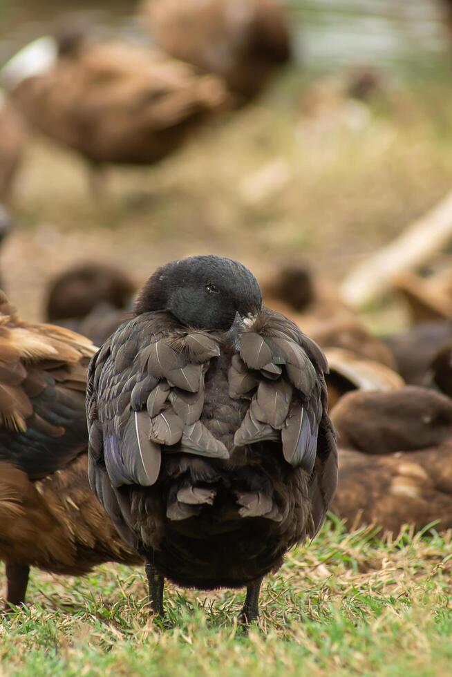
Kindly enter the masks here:
M 126 319 L 135 291 L 133 280 L 117 267 L 79 263 L 50 281 L 44 316 L 101 345 Z

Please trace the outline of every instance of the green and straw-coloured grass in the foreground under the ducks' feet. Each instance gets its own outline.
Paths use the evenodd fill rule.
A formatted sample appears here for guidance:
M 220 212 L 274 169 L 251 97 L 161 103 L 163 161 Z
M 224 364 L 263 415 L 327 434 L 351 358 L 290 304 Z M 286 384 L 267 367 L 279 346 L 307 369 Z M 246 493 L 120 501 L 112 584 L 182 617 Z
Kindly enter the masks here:
M 440 675 L 452 660 L 452 534 L 376 540 L 328 522 L 292 551 L 246 636 L 243 591 L 167 586 L 169 629 L 145 609 L 140 569 L 83 579 L 34 572 L 30 606 L 0 622 L 2 675 Z

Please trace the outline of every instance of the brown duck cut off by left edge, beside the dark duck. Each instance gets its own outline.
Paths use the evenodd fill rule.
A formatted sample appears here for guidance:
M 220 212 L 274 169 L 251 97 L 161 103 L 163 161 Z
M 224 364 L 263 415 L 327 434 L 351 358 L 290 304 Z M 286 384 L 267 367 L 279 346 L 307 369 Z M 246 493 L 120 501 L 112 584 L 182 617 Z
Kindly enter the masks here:
M 21 322 L 0 293 L 0 559 L 8 604 L 30 566 L 66 575 L 140 557 L 88 486 L 86 367 L 95 348 L 62 327 Z

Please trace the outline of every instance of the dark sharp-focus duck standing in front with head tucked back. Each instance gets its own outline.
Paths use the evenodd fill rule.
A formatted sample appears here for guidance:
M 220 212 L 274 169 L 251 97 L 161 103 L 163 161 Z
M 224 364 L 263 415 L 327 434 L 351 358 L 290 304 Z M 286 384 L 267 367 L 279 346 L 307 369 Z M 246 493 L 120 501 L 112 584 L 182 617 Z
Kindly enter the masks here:
M 90 481 L 147 558 L 153 611 L 164 578 L 247 586 L 319 530 L 335 490 L 335 439 L 319 347 L 240 264 L 177 261 L 144 287 L 88 381 Z

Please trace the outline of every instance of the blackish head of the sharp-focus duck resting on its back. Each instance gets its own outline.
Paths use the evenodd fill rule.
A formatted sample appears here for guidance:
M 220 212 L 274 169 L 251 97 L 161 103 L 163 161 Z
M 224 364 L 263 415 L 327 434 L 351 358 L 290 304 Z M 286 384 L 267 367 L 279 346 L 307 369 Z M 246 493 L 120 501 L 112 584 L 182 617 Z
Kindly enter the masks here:
M 167 310 L 189 327 L 228 330 L 262 306 L 261 287 L 247 268 L 219 256 L 167 263 L 147 281 L 135 305 L 139 315 Z

